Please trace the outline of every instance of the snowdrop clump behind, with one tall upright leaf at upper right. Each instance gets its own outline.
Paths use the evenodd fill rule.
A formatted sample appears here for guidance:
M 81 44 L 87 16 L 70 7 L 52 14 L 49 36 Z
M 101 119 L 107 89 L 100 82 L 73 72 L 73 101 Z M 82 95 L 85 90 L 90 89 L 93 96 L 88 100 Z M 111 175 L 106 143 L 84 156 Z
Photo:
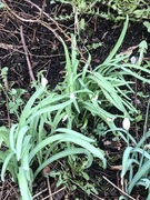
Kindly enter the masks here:
M 69 56 L 66 43 L 62 41 L 66 52 L 67 74 L 64 82 L 61 86 L 61 92 L 69 92 L 72 98 L 74 98 L 74 107 L 70 107 L 67 112 L 71 126 L 73 124 L 73 127 L 77 127 L 77 124 L 79 124 L 80 116 L 82 116 L 80 124 L 81 127 L 84 127 L 84 123 L 88 124 L 87 121 L 90 121 L 91 116 L 94 116 L 96 120 L 99 118 L 111 129 L 116 129 L 114 119 L 124 118 L 124 116 L 130 118 L 137 112 L 129 97 L 129 94 L 133 93 L 133 90 L 130 87 L 133 82 L 126 80 L 124 77 L 131 76 L 143 82 L 150 83 L 148 79 L 141 77 L 140 73 L 137 73 L 134 70 L 147 73 L 150 73 L 150 71 L 139 66 L 146 50 L 144 41 L 139 44 L 140 57 L 138 64 L 123 62 L 129 56 L 114 57 L 123 41 L 127 28 L 128 18 L 117 44 L 106 61 L 94 70 L 90 70 L 91 58 L 89 54 L 89 59 L 84 63 L 84 67 L 82 67 L 81 72 L 78 72 L 78 69 L 80 69 L 80 61 L 77 59 L 78 51 L 76 48 L 76 38 L 72 38 L 71 57 Z M 118 109 L 120 114 L 110 113 L 109 110 L 112 107 Z M 87 116 L 87 118 L 84 118 L 84 116 Z

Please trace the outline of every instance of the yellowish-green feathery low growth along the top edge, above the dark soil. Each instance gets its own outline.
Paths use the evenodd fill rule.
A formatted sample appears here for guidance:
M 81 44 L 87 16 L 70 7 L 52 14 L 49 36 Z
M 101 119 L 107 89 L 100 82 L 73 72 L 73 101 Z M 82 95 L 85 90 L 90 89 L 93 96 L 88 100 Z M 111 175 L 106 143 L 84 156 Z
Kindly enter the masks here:
M 71 4 L 80 14 L 93 14 L 113 21 L 124 20 L 127 14 L 133 21 L 150 18 L 149 0 L 54 0 L 53 2 Z M 99 6 L 106 9 L 101 11 Z

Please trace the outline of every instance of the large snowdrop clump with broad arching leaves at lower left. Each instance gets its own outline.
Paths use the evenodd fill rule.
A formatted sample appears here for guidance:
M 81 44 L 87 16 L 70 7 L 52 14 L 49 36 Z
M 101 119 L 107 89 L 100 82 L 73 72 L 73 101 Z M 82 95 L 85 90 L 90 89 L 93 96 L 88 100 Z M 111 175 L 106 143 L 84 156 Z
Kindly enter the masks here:
M 37 174 L 63 157 L 84 154 L 84 168 L 89 168 L 93 154 L 106 168 L 104 154 L 91 144 L 94 142 L 92 139 L 71 129 L 58 128 L 66 109 L 74 101 L 69 93 L 58 94 L 40 84 L 24 106 L 19 122 L 12 124 L 10 130 L 0 128 L 1 180 L 4 180 L 6 171 L 9 171 L 20 186 L 22 199 L 31 199 L 32 182 Z M 49 132 L 44 129 L 46 124 L 51 127 Z M 58 148 L 59 144 L 61 148 Z M 31 166 L 34 162 L 38 162 L 39 167 L 33 172 Z

